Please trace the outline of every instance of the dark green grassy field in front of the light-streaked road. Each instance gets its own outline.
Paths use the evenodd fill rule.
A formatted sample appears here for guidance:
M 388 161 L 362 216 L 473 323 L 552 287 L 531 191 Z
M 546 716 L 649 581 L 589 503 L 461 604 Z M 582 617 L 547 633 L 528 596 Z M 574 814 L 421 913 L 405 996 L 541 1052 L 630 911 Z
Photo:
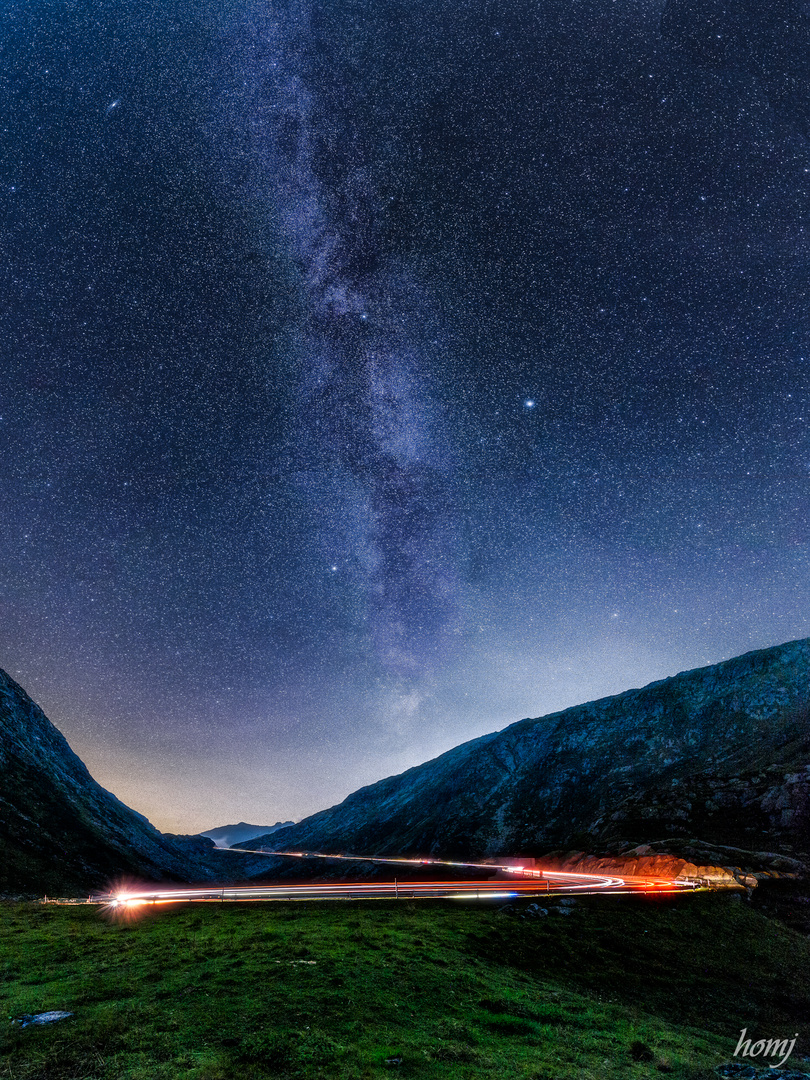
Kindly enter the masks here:
M 518 908 L 519 910 L 519 908 Z M 720 894 L 0 907 L 0 1080 L 699 1078 L 743 1027 L 808 1051 L 810 943 Z M 66 1010 L 57 1024 L 10 1018 Z M 397 1061 L 401 1059 L 401 1061 Z

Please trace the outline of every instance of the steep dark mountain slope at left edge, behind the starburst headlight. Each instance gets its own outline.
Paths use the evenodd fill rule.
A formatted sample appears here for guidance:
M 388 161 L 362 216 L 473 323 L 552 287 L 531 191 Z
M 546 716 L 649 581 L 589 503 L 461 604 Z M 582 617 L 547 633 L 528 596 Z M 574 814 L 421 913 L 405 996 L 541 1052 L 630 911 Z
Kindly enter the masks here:
M 0 894 L 86 893 L 122 876 L 210 879 L 206 841 L 197 843 L 164 836 L 97 784 L 0 671 Z

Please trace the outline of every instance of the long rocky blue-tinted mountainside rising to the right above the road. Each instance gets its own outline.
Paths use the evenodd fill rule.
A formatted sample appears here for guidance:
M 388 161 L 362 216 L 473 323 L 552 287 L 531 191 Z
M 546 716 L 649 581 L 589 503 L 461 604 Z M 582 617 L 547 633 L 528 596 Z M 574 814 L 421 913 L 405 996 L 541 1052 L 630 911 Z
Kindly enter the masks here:
M 810 639 L 791 642 L 521 720 L 268 842 L 481 858 L 697 838 L 807 853 L 809 661 Z

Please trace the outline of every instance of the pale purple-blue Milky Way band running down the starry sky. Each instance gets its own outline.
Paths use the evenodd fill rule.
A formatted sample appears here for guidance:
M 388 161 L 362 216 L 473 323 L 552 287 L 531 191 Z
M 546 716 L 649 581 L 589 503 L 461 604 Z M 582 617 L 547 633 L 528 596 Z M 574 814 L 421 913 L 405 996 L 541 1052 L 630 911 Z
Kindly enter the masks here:
M 312 21 L 306 4 L 261 5 L 230 27 L 241 85 L 229 125 L 249 131 L 243 195 L 272 218 L 297 274 L 284 464 L 320 517 L 329 572 L 362 590 L 383 669 L 408 677 L 433 666 L 454 606 L 450 455 L 423 355 L 435 320 L 382 251 L 354 92 L 316 55 Z

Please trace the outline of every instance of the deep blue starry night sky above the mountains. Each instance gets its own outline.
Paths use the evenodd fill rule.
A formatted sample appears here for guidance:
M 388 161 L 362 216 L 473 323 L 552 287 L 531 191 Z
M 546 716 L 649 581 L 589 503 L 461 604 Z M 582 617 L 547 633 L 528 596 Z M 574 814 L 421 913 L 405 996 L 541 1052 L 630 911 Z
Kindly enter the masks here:
M 0 27 L 0 666 L 158 827 L 810 633 L 810 4 Z

